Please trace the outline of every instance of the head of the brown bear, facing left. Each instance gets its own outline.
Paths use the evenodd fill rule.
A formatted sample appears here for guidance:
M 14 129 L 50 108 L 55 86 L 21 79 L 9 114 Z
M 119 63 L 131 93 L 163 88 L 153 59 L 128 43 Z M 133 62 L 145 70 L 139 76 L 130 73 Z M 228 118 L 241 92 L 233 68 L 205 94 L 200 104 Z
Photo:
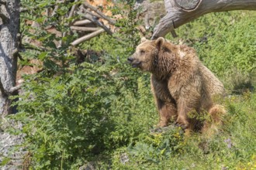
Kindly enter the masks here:
M 160 37 L 156 40 L 141 39 L 141 43 L 137 46 L 135 53 L 128 58 L 133 67 L 142 71 L 153 72 L 158 66 L 158 56 L 163 50 L 168 49 L 166 45 L 169 42 Z

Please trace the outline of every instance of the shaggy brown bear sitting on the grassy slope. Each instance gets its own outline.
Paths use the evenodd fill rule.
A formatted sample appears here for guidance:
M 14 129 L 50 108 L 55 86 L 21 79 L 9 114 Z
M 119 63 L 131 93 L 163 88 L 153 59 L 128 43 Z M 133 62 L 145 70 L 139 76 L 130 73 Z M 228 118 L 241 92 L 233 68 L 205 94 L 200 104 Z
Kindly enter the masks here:
M 191 47 L 172 44 L 162 37 L 142 39 L 128 61 L 151 73 L 151 88 L 160 114 L 158 126 L 175 121 L 189 131 L 203 131 L 210 127 L 209 121 L 199 118 L 205 114 L 213 122 L 220 122 L 225 110 L 213 103 L 213 97 L 223 96 L 223 83 L 200 62 Z

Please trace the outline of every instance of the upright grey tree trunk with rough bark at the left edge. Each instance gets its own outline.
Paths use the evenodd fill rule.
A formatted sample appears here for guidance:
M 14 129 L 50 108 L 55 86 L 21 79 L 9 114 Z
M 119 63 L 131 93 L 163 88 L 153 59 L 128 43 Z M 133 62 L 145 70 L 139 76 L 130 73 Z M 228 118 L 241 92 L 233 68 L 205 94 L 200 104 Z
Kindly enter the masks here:
M 19 0 L 0 2 L 0 115 L 12 114 L 9 97 L 16 93 Z

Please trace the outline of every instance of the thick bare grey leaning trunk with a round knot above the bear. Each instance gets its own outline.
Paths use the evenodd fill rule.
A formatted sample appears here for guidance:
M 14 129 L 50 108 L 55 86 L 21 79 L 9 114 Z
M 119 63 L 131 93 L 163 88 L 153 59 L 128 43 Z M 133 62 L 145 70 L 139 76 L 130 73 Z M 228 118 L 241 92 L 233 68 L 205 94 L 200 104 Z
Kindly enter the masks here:
M 155 27 L 151 39 L 168 32 L 209 12 L 256 10 L 256 0 L 164 0 L 167 14 Z

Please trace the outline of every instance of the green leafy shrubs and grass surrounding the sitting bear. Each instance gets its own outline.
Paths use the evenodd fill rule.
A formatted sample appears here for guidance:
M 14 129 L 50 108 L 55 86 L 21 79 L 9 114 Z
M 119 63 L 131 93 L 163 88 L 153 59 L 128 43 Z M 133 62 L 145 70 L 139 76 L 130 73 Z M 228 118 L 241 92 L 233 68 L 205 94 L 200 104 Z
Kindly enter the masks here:
M 256 13 L 247 11 L 204 15 L 178 28 L 175 43 L 193 46 L 199 58 L 227 88 L 223 100 L 228 114 L 220 130 L 207 137 L 189 138 L 179 128 L 152 131 L 157 111 L 150 93 L 150 75 L 126 63 L 140 40 L 133 1 L 119 1 L 113 12 L 126 15 L 114 36 L 103 34 L 79 46 L 100 55 L 75 63 L 69 43 L 77 35 L 57 38 L 46 31 L 31 33 L 26 20 L 67 32 L 63 17 L 71 3 L 60 4 L 57 15 L 45 18 L 43 8 L 54 3 L 22 1 L 22 33 L 43 44 L 29 46 L 26 59 L 40 59 L 44 70 L 26 76 L 19 96 L 23 123 L 23 168 L 29 169 L 254 169 L 256 168 Z M 125 8 L 126 10 L 123 10 Z M 33 28 L 34 29 L 34 28 Z M 53 40 L 62 40 L 57 48 Z M 62 63 L 62 64 L 57 64 Z

